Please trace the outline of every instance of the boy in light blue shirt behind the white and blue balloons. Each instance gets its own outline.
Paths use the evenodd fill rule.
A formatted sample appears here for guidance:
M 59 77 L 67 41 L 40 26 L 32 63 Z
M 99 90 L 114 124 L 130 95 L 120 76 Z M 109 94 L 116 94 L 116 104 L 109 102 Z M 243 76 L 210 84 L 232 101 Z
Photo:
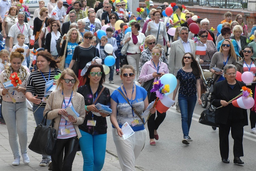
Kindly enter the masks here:
M 114 37 L 112 37 L 113 28 L 111 28 L 111 27 L 106 28 L 106 33 L 107 33 L 107 37 L 108 37 L 108 44 L 111 44 L 113 46 L 113 53 L 110 54 L 110 55 L 112 55 L 113 57 L 116 58 L 116 63 L 115 63 L 116 64 L 116 74 L 118 75 L 120 73 L 120 71 L 119 71 L 120 60 L 119 60 L 118 54 L 115 53 L 115 51 L 117 51 L 118 47 L 117 47 L 117 44 L 116 44 L 116 39 Z M 110 77 L 111 78 L 109 80 L 109 83 L 111 83 L 111 84 L 114 84 L 113 75 L 114 75 L 114 70 L 115 70 L 115 64 L 112 66 L 112 70 L 110 69 Z

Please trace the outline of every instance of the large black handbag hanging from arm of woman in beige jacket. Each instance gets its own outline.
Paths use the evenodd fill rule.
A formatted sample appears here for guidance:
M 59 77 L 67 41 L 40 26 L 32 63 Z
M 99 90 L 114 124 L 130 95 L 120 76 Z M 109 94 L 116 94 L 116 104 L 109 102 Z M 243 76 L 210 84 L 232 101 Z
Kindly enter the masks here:
M 52 120 L 49 126 L 46 126 L 47 114 L 48 112 L 45 114 L 42 122 L 35 128 L 28 148 L 35 153 L 51 156 L 56 150 L 57 132 L 54 128 L 54 120 Z

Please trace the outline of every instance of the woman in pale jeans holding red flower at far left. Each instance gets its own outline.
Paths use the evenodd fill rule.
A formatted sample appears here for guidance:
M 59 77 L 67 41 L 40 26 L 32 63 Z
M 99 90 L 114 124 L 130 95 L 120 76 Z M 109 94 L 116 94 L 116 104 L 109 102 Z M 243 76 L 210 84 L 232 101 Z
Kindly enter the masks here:
M 24 56 L 22 55 L 23 52 L 23 48 L 17 48 L 12 52 L 10 56 L 11 65 L 6 67 L 0 75 L 1 83 L 10 81 L 10 76 L 13 73 L 16 73 L 21 80 L 21 83 L 18 84 L 13 91 L 4 88 L 3 84 L 0 84 L 0 95 L 3 96 L 3 117 L 8 129 L 9 143 L 14 156 L 12 165 L 14 166 L 18 166 L 20 162 L 19 146 L 23 162 L 25 164 L 29 164 L 30 161 L 27 155 L 28 108 L 26 96 L 24 95 L 30 74 L 26 68 L 22 66 L 22 61 L 24 60 Z M 17 139 L 17 135 L 19 136 L 19 141 Z

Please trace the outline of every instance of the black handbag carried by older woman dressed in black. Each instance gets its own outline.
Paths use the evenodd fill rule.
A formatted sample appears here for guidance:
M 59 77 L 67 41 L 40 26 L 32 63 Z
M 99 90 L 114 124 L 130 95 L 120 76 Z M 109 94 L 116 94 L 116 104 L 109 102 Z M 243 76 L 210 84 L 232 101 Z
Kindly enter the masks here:
M 219 127 L 219 124 L 215 123 L 215 111 L 210 110 L 212 102 L 211 102 L 210 106 L 208 107 L 208 109 L 205 109 L 202 111 L 198 122 L 203 125 Z

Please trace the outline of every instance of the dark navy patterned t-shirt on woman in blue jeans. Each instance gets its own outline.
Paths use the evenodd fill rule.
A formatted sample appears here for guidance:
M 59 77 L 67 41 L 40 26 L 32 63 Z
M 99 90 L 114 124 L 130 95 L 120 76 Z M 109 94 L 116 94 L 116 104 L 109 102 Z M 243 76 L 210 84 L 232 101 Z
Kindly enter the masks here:
M 183 69 L 180 69 L 177 72 L 176 78 L 180 80 L 180 89 L 179 94 L 186 95 L 188 97 L 197 95 L 197 79 L 193 72 L 185 72 Z

